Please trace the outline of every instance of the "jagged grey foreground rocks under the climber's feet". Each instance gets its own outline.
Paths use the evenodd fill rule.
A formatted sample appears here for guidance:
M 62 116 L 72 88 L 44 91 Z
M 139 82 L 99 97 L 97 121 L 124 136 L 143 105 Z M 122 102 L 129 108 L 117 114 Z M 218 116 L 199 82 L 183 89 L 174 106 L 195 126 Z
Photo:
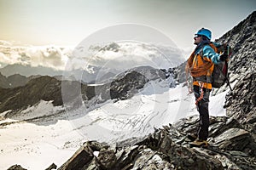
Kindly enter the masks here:
M 155 129 L 143 139 L 126 140 L 115 147 L 88 141 L 58 169 L 256 168 L 256 144 L 236 119 L 212 117 L 211 145 L 190 148 L 186 133 L 194 131 L 197 123 L 197 116 L 188 117 Z

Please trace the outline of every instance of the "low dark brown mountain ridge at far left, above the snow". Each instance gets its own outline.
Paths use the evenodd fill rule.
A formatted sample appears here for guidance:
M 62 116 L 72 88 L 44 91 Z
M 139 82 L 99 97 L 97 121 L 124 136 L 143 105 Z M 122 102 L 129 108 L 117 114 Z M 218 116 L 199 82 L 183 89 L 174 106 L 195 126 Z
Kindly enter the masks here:
M 81 90 L 76 90 L 77 87 Z M 61 90 L 65 90 L 66 93 L 62 95 Z M 61 82 L 48 76 L 33 78 L 23 87 L 0 88 L 0 94 L 0 112 L 14 110 L 9 112 L 7 117 L 15 114 L 15 110 L 26 109 L 27 106 L 35 105 L 40 100 L 52 100 L 53 105 L 63 105 L 62 99 L 65 102 L 74 101 L 79 94 L 83 94 L 86 99 L 95 96 L 94 87 L 88 87 L 80 82 Z M 73 103 L 79 105 L 78 102 Z

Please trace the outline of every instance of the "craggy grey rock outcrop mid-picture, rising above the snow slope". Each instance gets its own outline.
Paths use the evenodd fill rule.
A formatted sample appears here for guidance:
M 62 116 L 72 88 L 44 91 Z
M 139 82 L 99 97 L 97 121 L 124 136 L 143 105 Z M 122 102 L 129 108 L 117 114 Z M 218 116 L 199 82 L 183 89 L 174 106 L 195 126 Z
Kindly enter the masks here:
M 165 72 L 161 70 L 140 66 L 120 73 L 113 78 L 112 82 L 96 86 L 95 93 L 96 96 L 101 97 L 100 102 L 108 99 L 131 99 L 147 82 L 165 78 Z

